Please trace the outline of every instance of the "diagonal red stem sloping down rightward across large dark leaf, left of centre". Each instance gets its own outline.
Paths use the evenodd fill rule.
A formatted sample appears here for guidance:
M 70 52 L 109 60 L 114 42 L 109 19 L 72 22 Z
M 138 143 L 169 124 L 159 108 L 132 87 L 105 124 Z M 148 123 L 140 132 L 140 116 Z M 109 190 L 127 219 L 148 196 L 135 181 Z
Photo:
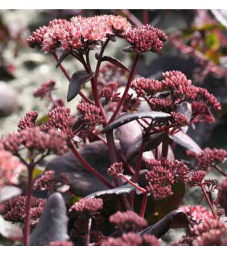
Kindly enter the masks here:
M 92 174 L 95 175 L 95 177 L 98 177 L 99 180 L 101 180 L 107 187 L 113 188 L 112 184 L 105 179 L 105 177 L 102 176 L 101 173 L 98 173 L 98 170 L 95 170 L 82 156 L 78 151 L 75 149 L 74 145 L 72 144 L 72 141 L 68 141 L 68 147 L 70 150 L 72 150 L 72 153 L 74 156 L 78 159 L 82 165 L 89 170 Z

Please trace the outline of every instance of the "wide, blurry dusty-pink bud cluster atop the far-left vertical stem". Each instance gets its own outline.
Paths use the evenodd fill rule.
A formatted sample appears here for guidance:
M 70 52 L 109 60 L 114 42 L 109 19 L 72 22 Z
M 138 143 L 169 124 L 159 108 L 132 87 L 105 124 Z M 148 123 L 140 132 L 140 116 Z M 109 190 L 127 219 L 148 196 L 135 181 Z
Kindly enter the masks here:
M 8 134 L 2 139 L 5 150 L 17 154 L 25 146 L 29 150 L 39 153 L 61 153 L 66 145 L 65 135 L 55 130 L 42 133 L 39 127 L 19 130 L 17 133 Z

